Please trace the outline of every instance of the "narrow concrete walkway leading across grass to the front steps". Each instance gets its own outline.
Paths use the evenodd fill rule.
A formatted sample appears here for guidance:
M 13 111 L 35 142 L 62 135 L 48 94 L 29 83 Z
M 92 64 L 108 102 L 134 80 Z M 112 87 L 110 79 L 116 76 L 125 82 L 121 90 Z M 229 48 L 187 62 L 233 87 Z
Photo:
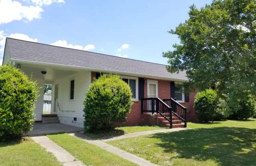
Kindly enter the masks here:
M 119 140 L 119 139 L 123 139 L 123 138 L 133 138 L 133 137 L 137 137 L 137 136 L 156 134 L 156 133 L 160 133 L 160 132 L 176 132 L 176 131 L 188 130 L 188 129 L 191 129 L 191 128 L 168 128 L 168 129 L 160 129 L 160 130 L 150 130 L 150 131 L 144 131 L 144 132 L 135 132 L 135 133 L 131 133 L 131 134 L 125 134 L 122 136 L 103 137 L 103 138 L 99 138 L 98 140 L 102 140 L 105 142 L 105 141 L 110 141 L 110 140 Z

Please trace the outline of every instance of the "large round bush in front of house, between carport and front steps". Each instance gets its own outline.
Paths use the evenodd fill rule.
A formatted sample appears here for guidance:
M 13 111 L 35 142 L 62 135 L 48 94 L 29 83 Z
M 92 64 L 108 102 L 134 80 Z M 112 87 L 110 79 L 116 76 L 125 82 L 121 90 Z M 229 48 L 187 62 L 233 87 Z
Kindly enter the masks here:
M 132 106 L 130 86 L 120 76 L 105 74 L 90 85 L 84 100 L 85 128 L 92 132 L 112 130 L 115 122 L 125 122 Z

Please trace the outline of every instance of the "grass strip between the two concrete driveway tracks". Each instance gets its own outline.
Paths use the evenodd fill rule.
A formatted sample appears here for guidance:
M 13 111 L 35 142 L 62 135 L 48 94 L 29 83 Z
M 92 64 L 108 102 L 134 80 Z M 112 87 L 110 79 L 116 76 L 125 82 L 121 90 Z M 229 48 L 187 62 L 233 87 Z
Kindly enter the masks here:
M 68 134 L 49 134 L 50 140 L 89 166 L 136 166 L 132 162 Z

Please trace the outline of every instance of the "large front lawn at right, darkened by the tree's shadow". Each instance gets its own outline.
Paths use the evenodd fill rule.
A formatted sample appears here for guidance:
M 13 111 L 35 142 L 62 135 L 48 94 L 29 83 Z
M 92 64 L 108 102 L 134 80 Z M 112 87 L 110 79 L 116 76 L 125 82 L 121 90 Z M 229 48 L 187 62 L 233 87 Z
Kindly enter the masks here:
M 188 123 L 179 132 L 108 141 L 162 166 L 256 165 L 256 119 Z

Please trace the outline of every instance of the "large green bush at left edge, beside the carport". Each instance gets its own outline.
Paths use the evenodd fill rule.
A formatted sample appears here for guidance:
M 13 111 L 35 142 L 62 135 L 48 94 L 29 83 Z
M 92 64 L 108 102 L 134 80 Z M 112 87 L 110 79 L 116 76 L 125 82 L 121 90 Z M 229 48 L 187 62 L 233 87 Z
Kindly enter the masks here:
M 32 129 L 36 82 L 17 68 L 0 66 L 0 141 L 21 138 Z

